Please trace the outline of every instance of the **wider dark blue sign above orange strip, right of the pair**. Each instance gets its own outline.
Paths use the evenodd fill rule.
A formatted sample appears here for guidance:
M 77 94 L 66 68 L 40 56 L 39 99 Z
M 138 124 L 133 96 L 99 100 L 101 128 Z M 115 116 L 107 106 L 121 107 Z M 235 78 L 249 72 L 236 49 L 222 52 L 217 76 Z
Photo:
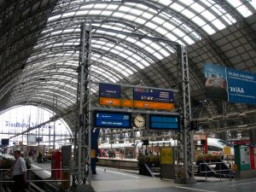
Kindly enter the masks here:
M 173 102 L 173 91 L 135 87 L 133 89 L 133 99 L 148 102 Z

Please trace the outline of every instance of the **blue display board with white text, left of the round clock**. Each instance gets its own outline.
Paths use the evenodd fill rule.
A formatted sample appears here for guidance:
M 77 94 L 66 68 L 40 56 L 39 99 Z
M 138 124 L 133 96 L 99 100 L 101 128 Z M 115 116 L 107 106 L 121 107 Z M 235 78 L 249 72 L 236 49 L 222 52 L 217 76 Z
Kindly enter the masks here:
M 95 111 L 94 126 L 99 128 L 131 129 L 131 113 Z

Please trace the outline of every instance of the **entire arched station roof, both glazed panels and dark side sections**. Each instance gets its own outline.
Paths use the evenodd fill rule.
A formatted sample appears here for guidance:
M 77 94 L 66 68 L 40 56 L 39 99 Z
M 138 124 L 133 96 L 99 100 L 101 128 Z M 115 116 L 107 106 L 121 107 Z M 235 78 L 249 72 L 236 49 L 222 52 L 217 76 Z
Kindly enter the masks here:
M 51 109 L 57 100 L 55 113 L 70 113 L 63 119 L 75 125 L 83 22 L 98 26 L 91 33 L 93 81 L 172 89 L 176 49 L 162 39 L 187 46 L 195 118 L 222 111 L 205 102 L 205 62 L 256 72 L 253 0 L 0 0 L 0 10 L 2 113 L 17 105 Z M 230 112 L 251 109 L 230 105 Z

